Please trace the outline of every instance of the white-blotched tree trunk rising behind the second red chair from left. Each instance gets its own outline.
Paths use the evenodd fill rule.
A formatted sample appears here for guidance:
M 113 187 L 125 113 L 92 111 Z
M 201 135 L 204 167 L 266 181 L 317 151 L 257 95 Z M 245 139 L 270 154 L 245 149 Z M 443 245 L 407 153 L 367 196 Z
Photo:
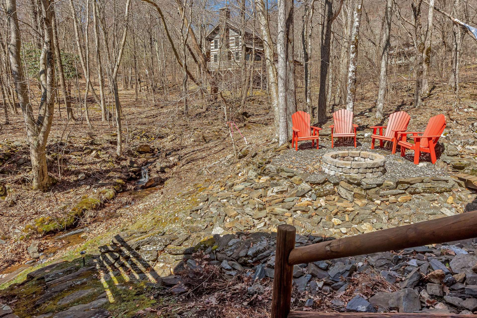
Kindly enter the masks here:
M 346 109 L 350 112 L 354 112 L 354 99 L 356 98 L 356 63 L 358 61 L 358 40 L 362 6 L 363 0 L 357 3 L 353 11 L 353 28 L 351 29 L 350 43 L 350 67 L 348 69 L 348 94 L 346 96 Z

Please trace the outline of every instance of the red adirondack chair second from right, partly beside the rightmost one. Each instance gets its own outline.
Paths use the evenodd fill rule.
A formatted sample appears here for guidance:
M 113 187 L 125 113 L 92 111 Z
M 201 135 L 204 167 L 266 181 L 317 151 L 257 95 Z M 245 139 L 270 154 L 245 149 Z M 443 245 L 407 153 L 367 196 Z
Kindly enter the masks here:
M 374 141 L 379 139 L 379 146 L 382 148 L 384 141 L 390 141 L 393 143 L 393 154 L 396 153 L 397 145 L 397 133 L 405 132 L 407 125 L 409 124 L 409 116 L 406 112 L 395 112 L 389 115 L 389 120 L 387 126 L 371 126 L 373 128 L 373 134 L 371 135 L 371 149 L 374 149 Z M 376 131 L 379 128 L 379 134 Z M 386 128 L 383 134 L 383 128 Z

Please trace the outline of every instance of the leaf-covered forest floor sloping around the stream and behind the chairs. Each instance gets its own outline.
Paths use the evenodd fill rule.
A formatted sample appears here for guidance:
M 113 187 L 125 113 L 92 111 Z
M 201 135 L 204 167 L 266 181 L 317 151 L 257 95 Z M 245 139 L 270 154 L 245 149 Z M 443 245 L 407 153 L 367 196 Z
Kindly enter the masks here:
M 406 111 L 411 114 L 408 130 L 422 131 L 431 116 L 444 113 L 446 130 L 462 138 L 472 136 L 468 126 L 477 121 L 474 77 L 471 72 L 463 72 L 458 106 L 454 93 L 446 85 L 431 83 L 434 87 L 425 99 L 425 106 L 412 108 L 412 92 L 405 89 L 407 83 L 404 83 L 398 89 L 395 102 L 389 101 L 384 116 Z M 359 90 L 354 122 L 360 131 L 369 132 L 367 127 L 383 124 L 373 118 L 375 91 L 374 87 Z M 245 144 L 241 134 L 234 131 L 240 159 L 230 156 L 233 145 L 220 104 L 192 103 L 188 115 L 184 116 L 175 98 L 170 95 L 168 100 L 159 100 L 156 96 L 153 104 L 150 96 L 147 100 L 143 97 L 135 101 L 134 91 L 121 92 L 125 147 L 119 159 L 115 156 L 113 120 L 102 123 L 96 105 L 89 106 L 92 128 L 88 128 L 84 118 L 68 122 L 64 114 L 62 119 L 56 116 L 47 151 L 49 172 L 57 183 L 45 193 L 31 190 L 28 145 L 21 115 L 12 115 L 10 125 L 1 126 L 5 138 L 0 141 L 0 191 L 3 187 L 5 193 L 0 192 L 3 199 L 0 202 L 0 284 L 3 283 L 0 288 L 21 281 L 27 272 L 43 265 L 61 259 L 77 261 L 82 250 L 94 253 L 118 232 L 158 230 L 180 222 L 176 211 L 197 205 L 197 195 L 212 181 L 226 178 L 248 164 L 247 154 L 276 147 L 271 144 L 274 129 L 265 94 L 247 98 L 244 109 L 247 118 L 234 117 L 240 133 L 247 139 Z M 240 102 L 230 103 L 233 109 L 238 109 Z M 334 106 L 329 113 L 340 108 Z M 332 118 L 319 125 L 328 127 L 331 123 Z M 142 151 L 144 145 L 150 149 Z M 306 147 L 308 143 L 300 149 Z M 136 169 L 141 167 L 147 169 L 149 179 L 154 179 L 151 187 L 138 184 L 144 181 L 141 174 L 145 170 Z M 114 195 L 106 190 L 114 190 Z M 72 208 L 85 203 L 93 206 L 85 207 L 81 215 L 72 214 Z M 71 215 L 73 222 L 66 222 Z M 62 236 L 72 229 L 80 230 L 74 235 Z M 27 251 L 29 246 L 38 248 L 39 258 L 31 257 Z M 217 278 L 215 282 L 218 288 L 230 286 L 220 280 Z M 270 297 L 267 293 L 264 297 Z M 239 314 L 256 316 L 263 314 L 264 309 L 227 310 L 229 317 L 235 317 Z

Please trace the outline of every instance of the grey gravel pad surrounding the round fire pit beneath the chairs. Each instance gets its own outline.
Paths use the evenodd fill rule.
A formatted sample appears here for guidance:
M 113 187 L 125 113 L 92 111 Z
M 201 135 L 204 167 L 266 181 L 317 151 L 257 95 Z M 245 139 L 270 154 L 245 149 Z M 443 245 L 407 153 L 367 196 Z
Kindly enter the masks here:
M 341 143 L 343 144 L 343 143 Z M 391 154 L 387 149 L 376 147 L 370 149 L 371 143 L 359 143 L 356 148 L 353 146 L 340 145 L 331 147 L 331 141 L 320 142 L 320 149 L 311 148 L 310 143 L 300 143 L 298 151 L 294 149 L 288 150 L 285 154 L 281 154 L 273 158 L 271 164 L 276 167 L 286 167 L 298 172 L 308 172 L 317 175 L 328 175 L 321 171 L 321 157 L 323 154 L 340 150 L 364 150 L 371 153 L 383 154 L 386 158 L 386 173 L 384 177 L 389 180 L 397 180 L 399 178 L 412 177 L 428 177 L 435 175 L 446 175 L 445 172 L 437 171 L 434 164 L 429 160 L 423 161 L 419 165 L 413 163 L 414 152 L 408 151 L 405 158 L 401 157 L 399 151 Z

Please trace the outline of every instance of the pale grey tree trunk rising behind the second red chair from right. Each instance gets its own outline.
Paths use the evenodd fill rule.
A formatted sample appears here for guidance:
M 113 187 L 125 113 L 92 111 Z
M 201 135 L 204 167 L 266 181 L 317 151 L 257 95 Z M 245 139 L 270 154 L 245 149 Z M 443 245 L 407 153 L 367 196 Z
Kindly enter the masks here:
M 387 67 L 389 58 L 389 48 L 391 46 L 390 31 L 391 31 L 391 19 L 393 17 L 393 0 L 386 1 L 386 10 L 384 11 L 383 20 L 383 41 L 381 42 L 381 72 L 379 75 L 379 90 L 378 98 L 376 100 L 376 119 L 383 119 L 384 109 L 384 95 L 386 94 L 386 82 L 387 82 Z

